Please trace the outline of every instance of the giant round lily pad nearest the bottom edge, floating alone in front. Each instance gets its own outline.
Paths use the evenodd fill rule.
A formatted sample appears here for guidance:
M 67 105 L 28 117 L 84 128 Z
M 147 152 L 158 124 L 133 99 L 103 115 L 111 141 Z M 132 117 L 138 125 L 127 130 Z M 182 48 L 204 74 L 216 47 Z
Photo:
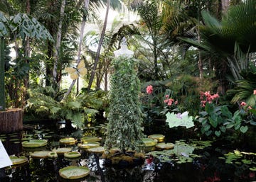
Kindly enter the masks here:
M 90 174 L 90 169 L 85 166 L 67 166 L 60 169 L 59 174 L 65 179 L 78 179 Z

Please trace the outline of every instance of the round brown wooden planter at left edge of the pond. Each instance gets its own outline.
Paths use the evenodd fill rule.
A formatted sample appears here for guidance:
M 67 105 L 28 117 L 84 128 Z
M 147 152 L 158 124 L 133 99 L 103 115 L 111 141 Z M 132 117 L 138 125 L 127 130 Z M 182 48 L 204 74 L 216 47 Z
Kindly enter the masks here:
M 0 133 L 21 131 L 23 129 L 23 112 L 21 108 L 0 111 Z

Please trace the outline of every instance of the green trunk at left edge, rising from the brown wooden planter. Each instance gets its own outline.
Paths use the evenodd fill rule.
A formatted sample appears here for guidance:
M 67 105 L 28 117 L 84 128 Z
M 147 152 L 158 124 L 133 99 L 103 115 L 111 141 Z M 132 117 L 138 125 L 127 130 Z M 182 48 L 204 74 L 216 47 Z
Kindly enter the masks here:
M 0 110 L 6 109 L 4 91 L 4 38 L 0 37 Z

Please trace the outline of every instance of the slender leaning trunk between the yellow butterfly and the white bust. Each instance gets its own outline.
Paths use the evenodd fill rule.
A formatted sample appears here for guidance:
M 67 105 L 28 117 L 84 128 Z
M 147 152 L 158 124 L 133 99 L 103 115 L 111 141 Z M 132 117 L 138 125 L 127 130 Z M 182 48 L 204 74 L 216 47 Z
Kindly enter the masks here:
M 92 81 L 94 79 L 95 72 L 96 72 L 96 69 L 97 69 L 97 63 L 99 62 L 99 59 L 100 59 L 100 50 L 101 50 L 101 47 L 102 47 L 103 38 L 105 36 L 105 31 L 106 31 L 106 28 L 107 28 L 107 16 L 108 16 L 109 10 L 110 10 L 110 0 L 107 0 L 107 10 L 106 10 L 106 14 L 105 14 L 105 21 L 104 21 L 104 25 L 103 25 L 103 28 L 102 28 L 102 33 L 100 35 L 100 42 L 99 42 L 99 45 L 98 45 L 98 48 L 97 48 L 95 64 L 93 65 L 92 74 L 90 76 L 90 81 L 89 81 L 89 84 L 88 84 L 88 91 L 90 91 L 90 89 L 92 87 Z

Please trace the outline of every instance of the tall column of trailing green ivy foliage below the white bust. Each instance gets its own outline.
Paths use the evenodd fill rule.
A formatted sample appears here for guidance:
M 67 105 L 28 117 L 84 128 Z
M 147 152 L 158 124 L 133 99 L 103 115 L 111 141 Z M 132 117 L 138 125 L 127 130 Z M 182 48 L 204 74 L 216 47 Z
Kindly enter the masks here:
M 121 152 L 139 150 L 142 144 L 143 114 L 139 102 L 137 60 L 119 56 L 112 61 L 114 73 L 110 84 L 110 112 L 107 120 L 107 149 L 118 147 Z

